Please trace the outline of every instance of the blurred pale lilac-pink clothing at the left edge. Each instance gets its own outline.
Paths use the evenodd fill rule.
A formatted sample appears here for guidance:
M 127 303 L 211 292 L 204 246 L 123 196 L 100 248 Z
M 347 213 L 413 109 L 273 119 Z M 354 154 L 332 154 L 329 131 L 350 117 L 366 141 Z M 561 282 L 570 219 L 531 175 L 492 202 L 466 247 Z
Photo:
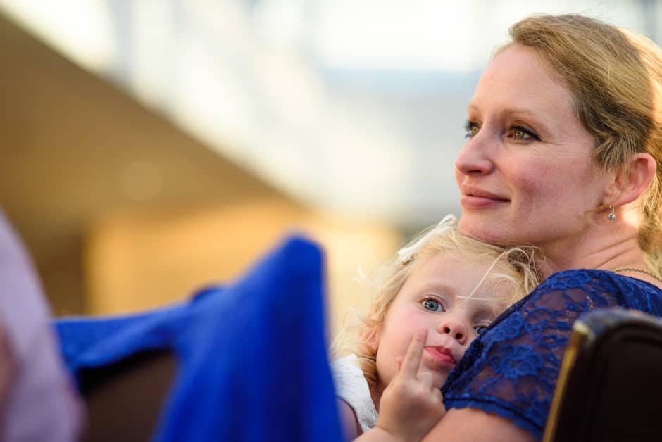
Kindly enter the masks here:
M 79 434 L 81 401 L 49 316 L 30 258 L 0 210 L 0 322 L 16 365 L 1 441 L 73 442 Z

